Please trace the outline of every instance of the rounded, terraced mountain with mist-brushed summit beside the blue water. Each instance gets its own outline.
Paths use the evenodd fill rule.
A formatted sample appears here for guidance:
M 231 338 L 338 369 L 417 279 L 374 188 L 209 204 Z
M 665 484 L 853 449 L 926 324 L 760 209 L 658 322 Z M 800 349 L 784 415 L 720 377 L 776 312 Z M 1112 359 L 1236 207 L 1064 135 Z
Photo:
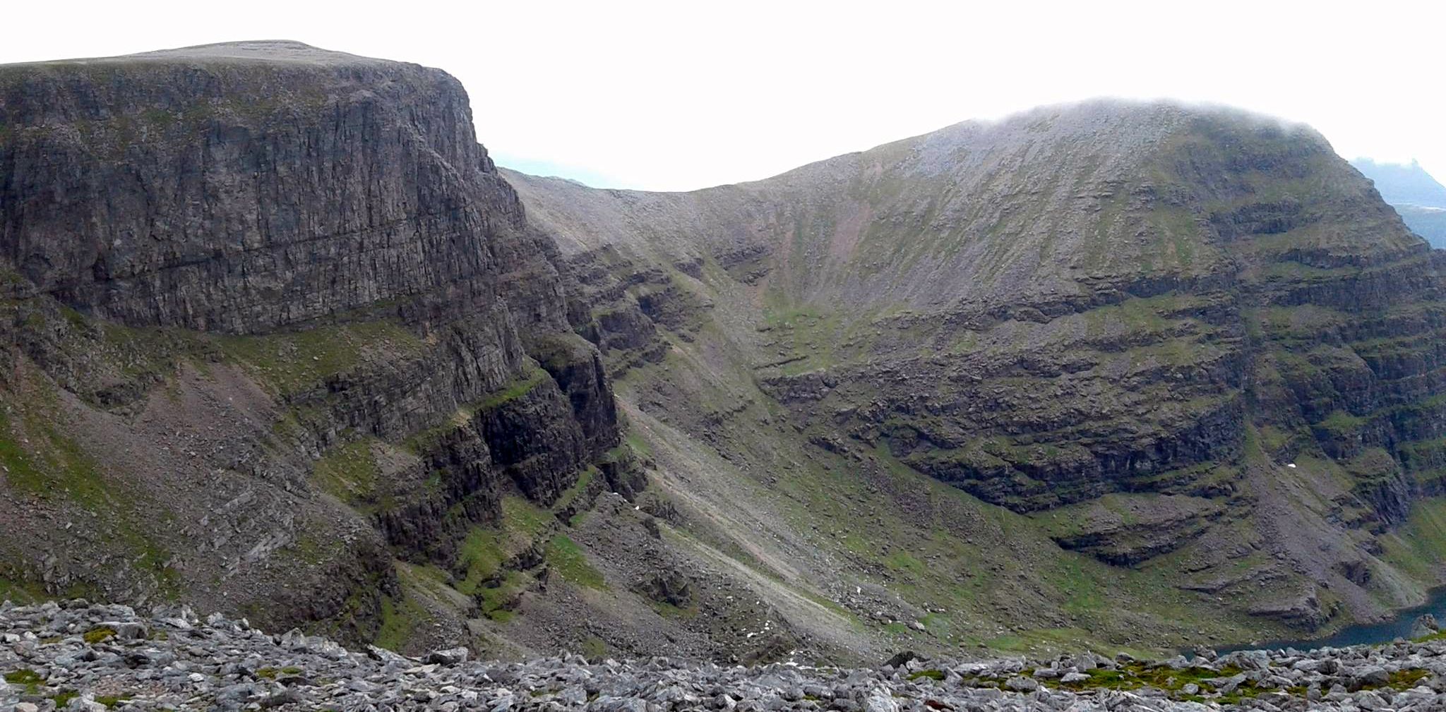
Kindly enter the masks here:
M 1306 127 L 1102 101 L 690 194 L 503 175 L 564 254 L 711 305 L 620 375 L 633 423 L 781 491 L 853 472 L 788 494 L 866 523 L 818 546 L 1021 621 L 991 644 L 1332 627 L 1439 581 L 1440 263 Z

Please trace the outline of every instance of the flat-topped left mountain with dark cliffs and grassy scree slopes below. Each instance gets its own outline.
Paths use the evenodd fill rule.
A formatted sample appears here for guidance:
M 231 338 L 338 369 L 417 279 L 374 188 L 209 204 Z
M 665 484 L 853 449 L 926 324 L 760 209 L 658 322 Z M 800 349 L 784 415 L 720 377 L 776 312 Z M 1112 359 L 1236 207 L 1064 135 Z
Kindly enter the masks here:
M 396 559 L 451 566 L 617 445 L 576 282 L 447 74 L 9 65 L 0 127 L 7 579 L 369 640 Z

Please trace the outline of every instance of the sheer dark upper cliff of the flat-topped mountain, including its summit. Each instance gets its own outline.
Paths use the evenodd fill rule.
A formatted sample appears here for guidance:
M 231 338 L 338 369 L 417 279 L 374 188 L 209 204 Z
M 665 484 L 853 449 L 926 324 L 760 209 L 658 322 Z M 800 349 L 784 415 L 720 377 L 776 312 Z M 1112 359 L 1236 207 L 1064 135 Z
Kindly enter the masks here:
M 421 293 L 490 302 L 500 274 L 548 269 L 454 78 L 288 43 L 215 53 L 3 71 L 0 250 L 42 292 L 259 332 Z M 545 296 L 526 308 L 561 324 Z

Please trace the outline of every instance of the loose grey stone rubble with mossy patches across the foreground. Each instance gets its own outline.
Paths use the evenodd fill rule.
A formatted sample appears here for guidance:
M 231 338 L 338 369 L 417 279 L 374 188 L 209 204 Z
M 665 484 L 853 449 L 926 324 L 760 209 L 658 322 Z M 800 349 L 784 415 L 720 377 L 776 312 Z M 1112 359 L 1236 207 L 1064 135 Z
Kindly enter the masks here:
M 1433 621 L 1434 622 L 1434 621 Z M 1379 647 L 1246 650 L 1194 659 L 930 660 L 879 669 L 778 663 L 720 667 L 674 659 L 470 661 L 466 648 L 409 659 L 348 651 L 296 630 L 189 608 L 140 617 L 87 601 L 0 604 L 0 711 L 55 709 L 589 709 L 814 711 L 1440 711 L 1446 638 Z

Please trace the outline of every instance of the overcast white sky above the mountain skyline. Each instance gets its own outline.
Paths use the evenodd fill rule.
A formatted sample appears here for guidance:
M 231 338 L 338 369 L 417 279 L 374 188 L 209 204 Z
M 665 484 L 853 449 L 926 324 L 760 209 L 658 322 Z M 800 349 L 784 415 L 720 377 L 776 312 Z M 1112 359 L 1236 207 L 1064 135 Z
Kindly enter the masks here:
M 1313 124 L 1446 182 L 1446 3 L 19 1 L 0 62 L 298 39 L 440 66 L 499 163 L 691 189 L 1098 95 Z

